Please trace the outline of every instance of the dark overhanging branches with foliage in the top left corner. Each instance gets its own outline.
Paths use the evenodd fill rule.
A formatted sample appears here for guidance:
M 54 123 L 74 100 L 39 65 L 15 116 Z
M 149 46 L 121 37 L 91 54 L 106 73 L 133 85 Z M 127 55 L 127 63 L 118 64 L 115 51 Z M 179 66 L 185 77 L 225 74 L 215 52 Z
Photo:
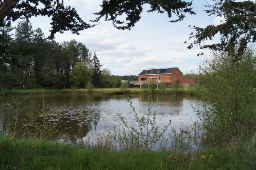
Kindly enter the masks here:
M 0 2 L 0 22 L 7 20 L 9 23 L 18 19 L 32 16 L 51 17 L 51 34 L 53 39 L 57 32 L 63 33 L 70 30 L 73 34 L 91 28 L 77 14 L 77 11 L 70 6 L 64 6 L 63 1 L 52 0 L 4 0 Z

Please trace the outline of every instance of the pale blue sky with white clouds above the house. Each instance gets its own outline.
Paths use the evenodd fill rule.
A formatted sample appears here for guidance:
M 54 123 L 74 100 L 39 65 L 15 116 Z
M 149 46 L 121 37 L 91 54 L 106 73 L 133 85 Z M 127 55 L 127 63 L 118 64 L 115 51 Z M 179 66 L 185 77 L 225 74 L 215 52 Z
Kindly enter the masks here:
M 65 0 L 65 5 L 74 7 L 80 17 L 87 23 L 96 18 L 94 12 L 100 11 L 102 0 Z M 220 17 L 208 16 L 204 10 L 205 0 L 194 0 L 192 3 L 196 15 L 186 15 L 178 23 L 170 23 L 167 14 L 147 13 L 149 6 L 143 6 L 141 19 L 128 30 L 117 30 L 110 21 L 100 20 L 94 28 L 80 31 L 80 35 L 70 31 L 55 34 L 57 42 L 72 39 L 82 42 L 90 51 L 96 51 L 102 68 L 108 68 L 113 75 L 137 75 L 143 68 L 178 67 L 183 74 L 198 72 L 204 57 L 211 53 L 204 51 L 205 56 L 198 57 L 201 50 L 197 47 L 188 49 L 187 41 L 192 30 L 188 27 L 205 27 L 219 24 Z M 34 29 L 40 27 L 46 37 L 49 36 L 50 20 L 48 17 L 32 17 Z M 217 40 L 216 40 L 217 41 Z

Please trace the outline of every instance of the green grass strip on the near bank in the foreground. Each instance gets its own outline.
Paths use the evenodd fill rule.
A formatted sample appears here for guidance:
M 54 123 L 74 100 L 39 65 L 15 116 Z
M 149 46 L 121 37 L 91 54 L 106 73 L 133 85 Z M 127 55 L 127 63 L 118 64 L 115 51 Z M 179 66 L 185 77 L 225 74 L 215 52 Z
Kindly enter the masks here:
M 255 168 L 255 156 L 255 151 L 248 154 L 243 148 L 231 151 L 221 146 L 189 154 L 148 150 L 116 152 L 0 136 L 1 170 L 250 170 Z

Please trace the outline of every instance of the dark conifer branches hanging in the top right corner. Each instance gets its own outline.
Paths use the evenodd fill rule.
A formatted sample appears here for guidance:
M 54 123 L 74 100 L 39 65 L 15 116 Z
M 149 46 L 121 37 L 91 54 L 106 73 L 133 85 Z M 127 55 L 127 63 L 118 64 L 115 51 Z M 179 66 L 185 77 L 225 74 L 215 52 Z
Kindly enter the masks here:
M 195 39 L 193 44 L 199 45 L 201 49 L 209 48 L 217 51 L 229 51 L 234 55 L 235 60 L 241 59 L 248 42 L 256 42 L 256 3 L 252 1 L 235 2 L 234 0 L 213 0 L 214 4 L 209 4 L 209 10 L 206 12 L 211 15 L 223 17 L 224 20 L 219 25 L 209 25 L 206 28 L 193 26 L 194 32 L 189 39 Z M 218 43 L 206 43 L 206 40 L 212 40 L 213 37 L 221 37 Z M 233 54 L 232 54 L 233 53 Z M 201 53 L 202 55 L 203 53 Z M 200 55 L 200 54 L 198 54 Z

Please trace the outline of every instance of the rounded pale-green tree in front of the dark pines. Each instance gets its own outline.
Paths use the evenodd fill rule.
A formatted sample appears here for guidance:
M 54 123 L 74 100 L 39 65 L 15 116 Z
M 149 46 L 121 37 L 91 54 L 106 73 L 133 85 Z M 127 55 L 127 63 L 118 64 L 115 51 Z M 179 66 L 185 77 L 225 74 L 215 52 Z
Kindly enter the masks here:
M 73 71 L 70 72 L 69 81 L 75 87 L 85 88 L 92 81 L 93 72 L 93 65 L 89 61 L 76 62 Z

